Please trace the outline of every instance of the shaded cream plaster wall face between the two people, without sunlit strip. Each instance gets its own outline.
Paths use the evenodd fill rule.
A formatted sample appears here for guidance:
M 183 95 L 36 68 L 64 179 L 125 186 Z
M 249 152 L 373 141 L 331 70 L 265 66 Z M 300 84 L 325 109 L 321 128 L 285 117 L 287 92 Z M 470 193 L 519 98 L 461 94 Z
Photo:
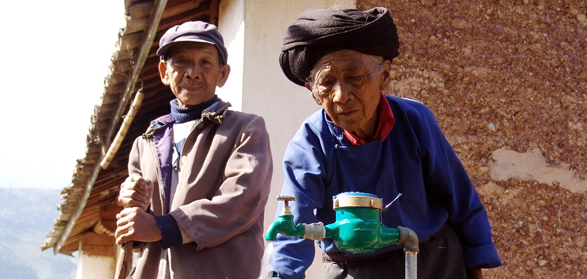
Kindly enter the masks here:
M 336 3 L 338 2 L 338 3 Z M 279 66 L 283 36 L 299 14 L 309 8 L 330 8 L 342 0 L 245 0 L 245 56 L 242 110 L 264 117 L 274 159 L 271 200 L 265 227 L 274 220 L 275 196 L 284 180 L 285 148 L 299 126 L 321 109 L 308 89 L 289 81 Z M 350 1 L 346 1 L 350 4 Z M 353 1 L 354 4 L 354 1 Z M 271 210 L 270 210 L 271 209 Z

